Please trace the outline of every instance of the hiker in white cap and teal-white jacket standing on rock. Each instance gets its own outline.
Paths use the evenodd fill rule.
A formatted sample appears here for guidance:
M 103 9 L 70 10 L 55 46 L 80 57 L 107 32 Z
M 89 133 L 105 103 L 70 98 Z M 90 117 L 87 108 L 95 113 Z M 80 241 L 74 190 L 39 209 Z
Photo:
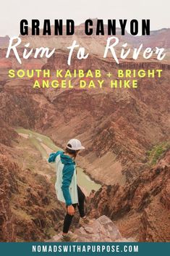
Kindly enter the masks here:
M 85 149 L 81 142 L 78 139 L 70 139 L 64 152 L 52 153 L 48 159 L 48 162 L 56 162 L 56 195 L 59 201 L 65 202 L 67 207 L 61 235 L 62 241 L 74 241 L 76 239 L 75 236 L 68 234 L 76 207 L 80 213 L 80 225 L 92 222 L 85 215 L 85 194 L 77 186 L 75 157 L 80 149 Z

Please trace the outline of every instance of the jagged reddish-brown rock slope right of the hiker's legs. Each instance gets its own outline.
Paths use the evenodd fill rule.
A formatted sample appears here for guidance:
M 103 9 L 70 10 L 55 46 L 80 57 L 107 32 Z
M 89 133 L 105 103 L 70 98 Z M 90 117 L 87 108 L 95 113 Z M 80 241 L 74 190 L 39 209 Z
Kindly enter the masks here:
M 91 194 L 89 214 L 107 215 L 123 236 L 138 241 L 170 241 L 170 152 L 124 187 L 103 186 Z

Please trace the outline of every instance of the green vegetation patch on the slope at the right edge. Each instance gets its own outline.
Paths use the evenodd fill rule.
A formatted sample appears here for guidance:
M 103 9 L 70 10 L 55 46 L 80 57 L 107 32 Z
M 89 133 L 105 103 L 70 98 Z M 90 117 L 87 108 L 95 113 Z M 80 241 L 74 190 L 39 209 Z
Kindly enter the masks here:
M 158 159 L 162 157 L 163 153 L 166 152 L 167 149 L 170 149 L 169 142 L 163 142 L 161 144 L 153 146 L 153 148 L 147 152 L 148 164 L 155 165 Z

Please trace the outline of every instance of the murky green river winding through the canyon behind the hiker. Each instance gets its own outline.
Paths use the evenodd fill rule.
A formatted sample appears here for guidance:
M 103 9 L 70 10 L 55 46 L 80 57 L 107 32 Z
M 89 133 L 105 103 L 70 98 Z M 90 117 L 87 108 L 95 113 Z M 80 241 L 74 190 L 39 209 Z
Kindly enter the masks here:
M 24 128 L 15 129 L 20 136 L 29 139 L 30 143 L 35 146 L 36 149 L 41 153 L 43 159 L 48 161 L 48 155 L 51 152 L 56 152 L 62 150 L 59 146 L 56 146 L 53 141 L 51 141 L 48 136 L 44 136 L 41 133 L 36 133 L 35 131 L 30 131 Z M 49 165 L 53 165 L 50 164 Z M 54 169 L 55 170 L 55 169 Z M 101 188 L 101 184 L 95 183 L 82 168 L 77 167 L 77 183 L 81 188 L 85 189 L 86 194 L 90 194 L 90 191 L 93 189 L 97 191 Z

